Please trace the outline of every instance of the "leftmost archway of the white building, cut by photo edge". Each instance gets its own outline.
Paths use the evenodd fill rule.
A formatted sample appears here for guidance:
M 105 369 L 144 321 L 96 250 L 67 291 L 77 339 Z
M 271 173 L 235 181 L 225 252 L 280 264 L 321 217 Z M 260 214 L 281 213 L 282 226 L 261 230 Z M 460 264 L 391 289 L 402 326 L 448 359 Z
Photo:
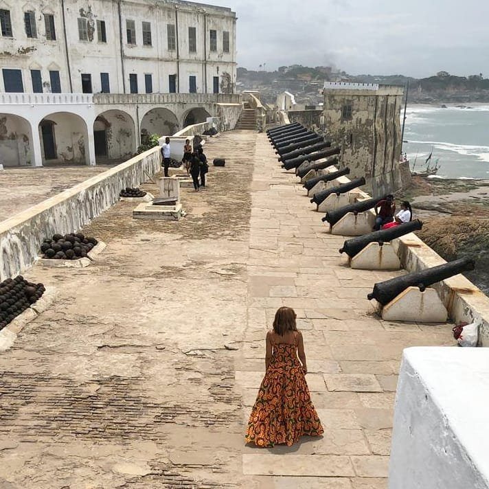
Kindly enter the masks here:
M 34 166 L 32 126 L 20 115 L 0 113 L 0 164 Z

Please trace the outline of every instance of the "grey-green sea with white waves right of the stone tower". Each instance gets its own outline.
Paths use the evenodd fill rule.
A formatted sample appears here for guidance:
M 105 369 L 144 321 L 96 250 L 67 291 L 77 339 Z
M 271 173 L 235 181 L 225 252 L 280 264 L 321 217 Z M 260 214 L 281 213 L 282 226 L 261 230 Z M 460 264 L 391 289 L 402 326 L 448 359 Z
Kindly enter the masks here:
M 489 179 L 489 105 L 408 106 L 404 140 L 409 142 L 402 152 L 407 152 L 411 169 L 416 159 L 415 171 L 425 168 L 433 151 L 431 166 L 436 159 L 440 164 L 437 177 Z

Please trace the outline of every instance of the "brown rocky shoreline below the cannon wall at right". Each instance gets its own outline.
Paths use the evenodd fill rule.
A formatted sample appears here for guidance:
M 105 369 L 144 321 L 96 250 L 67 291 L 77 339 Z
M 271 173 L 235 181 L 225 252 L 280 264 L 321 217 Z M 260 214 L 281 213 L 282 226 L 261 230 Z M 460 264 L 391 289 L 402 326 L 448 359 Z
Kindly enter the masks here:
M 464 275 L 489 295 L 489 180 L 413 177 L 396 197 L 411 202 L 424 224 L 416 234 L 444 260 L 475 258 Z

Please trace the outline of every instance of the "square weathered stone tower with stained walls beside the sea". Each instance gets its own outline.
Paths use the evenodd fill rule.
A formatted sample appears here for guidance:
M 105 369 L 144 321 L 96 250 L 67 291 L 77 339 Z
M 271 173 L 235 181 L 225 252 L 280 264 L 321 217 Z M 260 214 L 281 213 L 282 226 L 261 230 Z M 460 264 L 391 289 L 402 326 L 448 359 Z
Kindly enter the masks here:
M 374 195 L 394 192 L 411 179 L 400 163 L 403 87 L 371 83 L 324 84 L 324 125 L 341 146 L 341 166 L 365 177 Z

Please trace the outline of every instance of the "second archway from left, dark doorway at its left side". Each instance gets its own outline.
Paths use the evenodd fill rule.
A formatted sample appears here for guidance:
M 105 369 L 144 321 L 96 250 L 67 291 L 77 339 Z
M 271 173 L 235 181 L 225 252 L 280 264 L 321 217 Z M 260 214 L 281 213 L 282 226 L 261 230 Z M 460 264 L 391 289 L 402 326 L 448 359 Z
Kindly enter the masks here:
M 87 124 L 80 115 L 54 112 L 43 117 L 38 130 L 43 165 L 90 164 Z

